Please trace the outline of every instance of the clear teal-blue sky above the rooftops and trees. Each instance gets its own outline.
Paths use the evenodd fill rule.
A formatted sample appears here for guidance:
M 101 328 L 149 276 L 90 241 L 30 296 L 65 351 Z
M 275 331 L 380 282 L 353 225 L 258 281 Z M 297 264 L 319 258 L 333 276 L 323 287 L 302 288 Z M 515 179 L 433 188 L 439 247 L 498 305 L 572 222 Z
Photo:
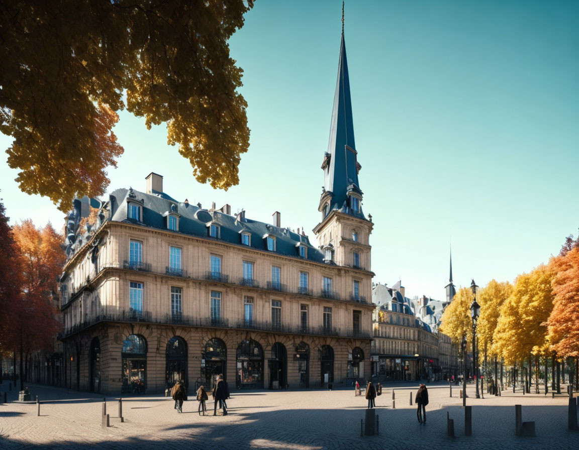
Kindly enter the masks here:
M 244 69 L 251 146 L 240 185 L 199 185 L 168 147 L 124 112 L 125 153 L 109 190 L 164 176 L 179 200 L 282 226 L 320 220 L 320 169 L 341 31 L 341 1 L 257 1 L 230 40 Z M 559 252 L 579 227 L 579 2 L 347 1 L 354 130 L 374 281 L 444 297 L 452 239 L 457 286 L 510 280 Z M 11 139 L 0 135 L 5 149 Z M 2 157 L 5 161 L 6 156 Z M 20 193 L 0 163 L 0 197 L 15 220 L 63 215 Z

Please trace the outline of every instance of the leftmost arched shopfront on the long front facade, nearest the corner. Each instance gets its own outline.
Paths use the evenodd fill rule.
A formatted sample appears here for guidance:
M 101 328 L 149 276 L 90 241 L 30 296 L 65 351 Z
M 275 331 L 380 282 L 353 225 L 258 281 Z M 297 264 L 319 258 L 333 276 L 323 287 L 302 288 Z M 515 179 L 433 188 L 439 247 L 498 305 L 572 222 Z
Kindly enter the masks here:
M 123 386 L 124 394 L 144 394 L 146 390 L 146 340 L 130 334 L 123 342 Z

